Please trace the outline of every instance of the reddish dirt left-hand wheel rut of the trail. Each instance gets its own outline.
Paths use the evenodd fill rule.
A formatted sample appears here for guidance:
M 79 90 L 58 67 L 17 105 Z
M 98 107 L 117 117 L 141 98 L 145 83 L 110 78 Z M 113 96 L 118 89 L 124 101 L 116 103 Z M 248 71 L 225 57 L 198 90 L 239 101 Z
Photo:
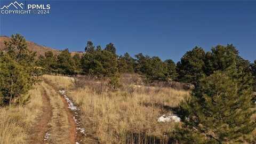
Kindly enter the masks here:
M 44 142 L 44 136 L 47 130 L 49 129 L 48 123 L 52 117 L 52 109 L 50 105 L 50 98 L 49 95 L 46 94 L 45 89 L 40 86 L 42 92 L 42 101 L 43 101 L 43 113 L 40 117 L 38 117 L 38 121 L 30 130 L 30 140 L 29 143 L 31 144 L 42 144 Z

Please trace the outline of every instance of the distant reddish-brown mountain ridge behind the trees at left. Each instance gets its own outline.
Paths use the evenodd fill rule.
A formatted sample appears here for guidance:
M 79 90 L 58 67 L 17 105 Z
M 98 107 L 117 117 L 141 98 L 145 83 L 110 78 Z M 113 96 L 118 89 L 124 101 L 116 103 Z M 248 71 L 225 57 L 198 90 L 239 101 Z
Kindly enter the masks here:
M 9 40 L 10 40 L 10 37 L 0 36 L 0 50 L 6 50 L 4 41 L 7 42 Z M 36 52 L 37 57 L 39 57 L 39 55 L 44 55 L 44 53 L 47 51 L 52 51 L 53 54 L 57 54 L 57 55 L 60 53 L 59 50 L 53 49 L 51 47 L 38 45 L 38 44 L 36 44 L 34 42 L 30 42 L 30 41 L 27 41 L 27 46 L 28 46 L 28 50 Z M 71 55 L 75 55 L 76 53 L 79 53 L 80 55 L 82 55 L 82 52 L 71 52 Z

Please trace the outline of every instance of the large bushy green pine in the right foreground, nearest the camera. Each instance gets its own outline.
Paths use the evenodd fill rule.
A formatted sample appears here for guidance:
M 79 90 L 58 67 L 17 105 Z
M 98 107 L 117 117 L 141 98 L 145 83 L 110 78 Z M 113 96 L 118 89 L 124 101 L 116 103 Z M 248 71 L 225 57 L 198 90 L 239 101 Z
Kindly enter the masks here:
M 181 143 L 243 143 L 251 134 L 256 126 L 252 81 L 235 78 L 238 73 L 231 66 L 201 79 L 181 104 L 183 124 L 176 133 Z

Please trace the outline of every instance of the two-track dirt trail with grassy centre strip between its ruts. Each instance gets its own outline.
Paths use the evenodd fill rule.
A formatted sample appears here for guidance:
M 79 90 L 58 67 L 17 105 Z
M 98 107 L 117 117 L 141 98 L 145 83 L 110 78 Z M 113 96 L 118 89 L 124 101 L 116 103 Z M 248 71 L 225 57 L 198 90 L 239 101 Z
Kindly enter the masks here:
M 47 81 L 41 83 L 43 113 L 30 130 L 30 143 L 77 144 L 76 123 L 68 102 Z

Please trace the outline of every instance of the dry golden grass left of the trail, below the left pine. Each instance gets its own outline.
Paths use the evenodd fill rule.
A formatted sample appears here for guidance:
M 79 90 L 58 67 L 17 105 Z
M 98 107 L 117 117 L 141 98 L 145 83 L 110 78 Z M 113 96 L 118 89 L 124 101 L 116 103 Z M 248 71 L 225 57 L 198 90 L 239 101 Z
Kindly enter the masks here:
M 28 130 L 42 113 L 42 87 L 30 90 L 30 102 L 26 106 L 0 108 L 0 144 L 28 143 Z

